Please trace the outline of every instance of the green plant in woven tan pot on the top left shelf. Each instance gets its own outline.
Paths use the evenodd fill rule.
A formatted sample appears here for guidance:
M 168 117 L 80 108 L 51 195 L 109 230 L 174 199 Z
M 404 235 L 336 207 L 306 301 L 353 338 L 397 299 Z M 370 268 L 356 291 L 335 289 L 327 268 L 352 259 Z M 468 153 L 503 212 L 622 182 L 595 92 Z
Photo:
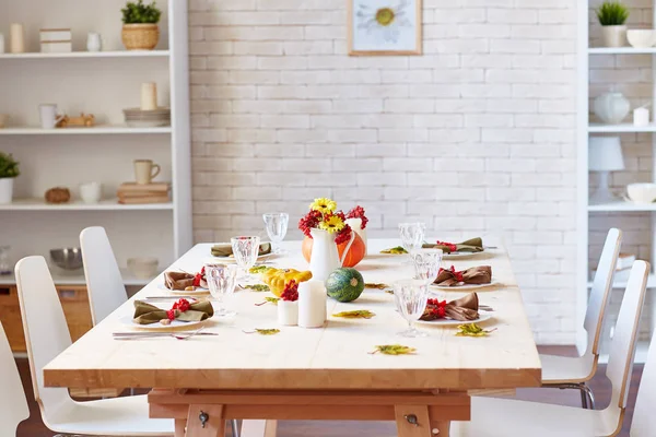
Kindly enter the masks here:
M 160 40 L 160 16 L 162 11 L 155 2 L 143 4 L 143 0 L 128 1 L 122 12 L 122 42 L 128 50 L 152 50 Z

